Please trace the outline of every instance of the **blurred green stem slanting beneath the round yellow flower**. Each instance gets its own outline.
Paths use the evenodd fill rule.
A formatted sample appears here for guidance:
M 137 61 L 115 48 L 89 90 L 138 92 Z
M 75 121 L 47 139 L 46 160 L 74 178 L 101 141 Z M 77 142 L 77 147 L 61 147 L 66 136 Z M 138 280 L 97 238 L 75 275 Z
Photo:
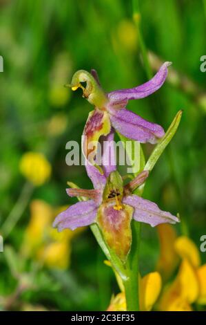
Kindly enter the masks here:
M 21 190 L 21 194 L 17 202 L 15 203 L 12 211 L 8 215 L 6 221 L 1 226 L 1 232 L 3 234 L 3 238 L 6 239 L 10 232 L 13 230 L 14 226 L 17 224 L 19 219 L 21 218 L 25 208 L 28 205 L 28 201 L 32 195 L 34 187 L 30 183 L 25 183 Z

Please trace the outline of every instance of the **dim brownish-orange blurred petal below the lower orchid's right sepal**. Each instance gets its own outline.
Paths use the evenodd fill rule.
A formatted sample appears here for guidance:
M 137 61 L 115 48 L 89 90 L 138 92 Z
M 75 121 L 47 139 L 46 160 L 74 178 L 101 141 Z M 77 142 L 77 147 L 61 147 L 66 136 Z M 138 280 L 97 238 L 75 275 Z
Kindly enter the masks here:
M 178 263 L 178 256 L 174 250 L 174 242 L 177 236 L 172 225 L 167 223 L 158 225 L 156 228 L 158 230 L 161 250 L 156 270 L 161 273 L 163 279 L 168 279 Z

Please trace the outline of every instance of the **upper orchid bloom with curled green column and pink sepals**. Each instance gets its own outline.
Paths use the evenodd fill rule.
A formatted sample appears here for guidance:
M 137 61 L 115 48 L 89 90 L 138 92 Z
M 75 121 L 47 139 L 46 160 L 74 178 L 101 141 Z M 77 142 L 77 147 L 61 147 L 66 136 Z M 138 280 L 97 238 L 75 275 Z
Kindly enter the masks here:
M 156 143 L 165 134 L 163 128 L 148 122 L 132 111 L 125 109 L 128 100 L 137 100 L 147 97 L 157 91 L 167 77 L 167 67 L 171 62 L 165 62 L 154 77 L 132 89 L 121 89 L 105 93 L 99 83 L 96 71 L 88 73 L 79 70 L 74 73 L 69 85 L 73 91 L 81 88 L 83 97 L 94 105 L 83 131 L 83 154 L 91 163 L 97 150 L 97 142 L 101 136 L 107 136 L 111 128 L 121 133 L 126 138 L 137 140 L 141 143 Z M 83 86 L 85 84 L 85 86 Z

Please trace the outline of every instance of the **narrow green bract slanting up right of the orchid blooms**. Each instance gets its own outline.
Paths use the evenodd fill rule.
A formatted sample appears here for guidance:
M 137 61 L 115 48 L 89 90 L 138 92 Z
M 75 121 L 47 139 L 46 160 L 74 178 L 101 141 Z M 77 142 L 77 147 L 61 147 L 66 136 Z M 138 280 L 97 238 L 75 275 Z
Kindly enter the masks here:
M 160 158 L 161 154 L 163 154 L 163 151 L 174 137 L 176 130 L 178 129 L 178 125 L 181 122 L 182 114 L 183 111 L 178 111 L 178 113 L 176 114 L 174 120 L 169 126 L 169 129 L 167 129 L 165 136 L 161 138 L 161 140 L 158 142 L 158 144 L 152 151 L 150 158 L 147 160 L 147 163 L 144 168 L 145 170 L 151 171 L 154 168 L 154 165 L 156 165 L 158 158 Z

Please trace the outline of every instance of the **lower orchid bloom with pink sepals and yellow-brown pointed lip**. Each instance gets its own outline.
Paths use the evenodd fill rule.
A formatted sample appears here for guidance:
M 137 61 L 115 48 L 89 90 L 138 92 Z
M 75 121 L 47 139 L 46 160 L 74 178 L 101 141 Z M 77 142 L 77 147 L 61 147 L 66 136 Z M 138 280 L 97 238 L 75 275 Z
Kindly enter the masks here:
M 105 143 L 108 146 L 113 136 L 112 132 L 107 137 Z M 69 188 L 66 190 L 69 196 L 81 196 L 89 200 L 71 205 L 56 216 L 54 227 L 57 227 L 59 231 L 67 228 L 74 230 L 97 223 L 107 245 L 114 250 L 121 261 L 125 261 L 132 243 L 130 225 L 132 218 L 135 221 L 149 223 L 152 227 L 160 223 L 178 222 L 176 216 L 160 210 L 155 203 L 132 194 L 136 187 L 145 182 L 148 171 L 142 171 L 130 183 L 123 186 L 123 178 L 116 171 L 116 166 L 110 162 L 104 166 L 104 174 L 90 164 L 86 165 L 86 169 L 94 189 Z

